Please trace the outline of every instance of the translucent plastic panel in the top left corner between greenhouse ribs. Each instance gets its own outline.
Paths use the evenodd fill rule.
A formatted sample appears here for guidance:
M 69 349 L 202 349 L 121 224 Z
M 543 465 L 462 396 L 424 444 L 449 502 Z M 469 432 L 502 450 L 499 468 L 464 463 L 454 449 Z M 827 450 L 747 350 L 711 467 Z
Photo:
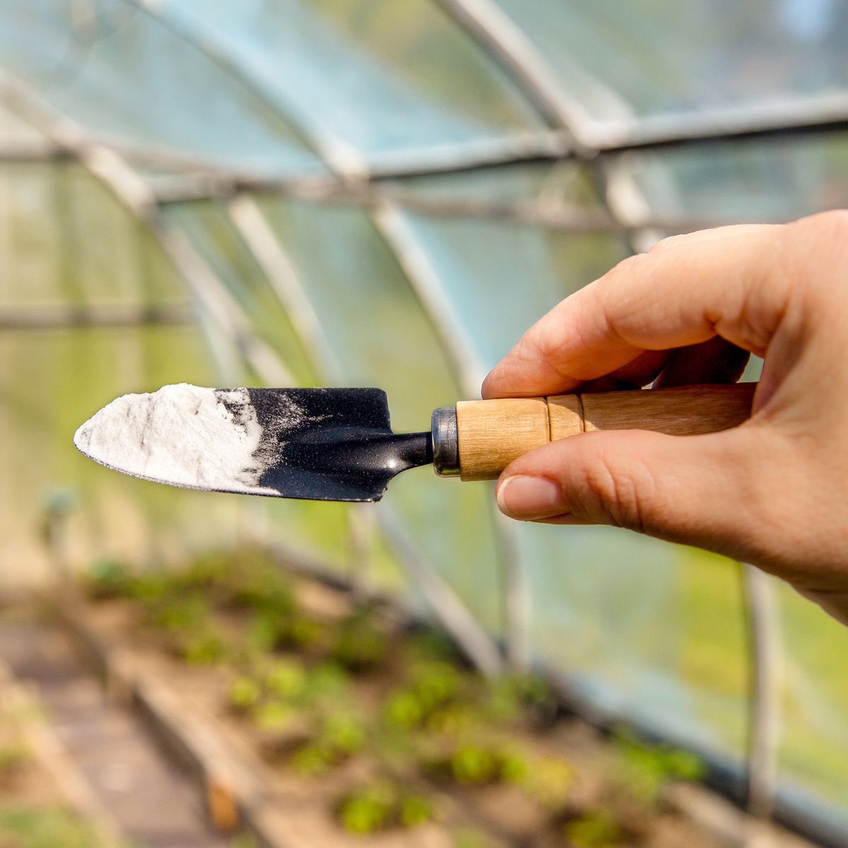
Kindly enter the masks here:
M 112 143 L 247 172 L 326 172 L 250 86 L 123 0 L 4 3 L 0 65 Z

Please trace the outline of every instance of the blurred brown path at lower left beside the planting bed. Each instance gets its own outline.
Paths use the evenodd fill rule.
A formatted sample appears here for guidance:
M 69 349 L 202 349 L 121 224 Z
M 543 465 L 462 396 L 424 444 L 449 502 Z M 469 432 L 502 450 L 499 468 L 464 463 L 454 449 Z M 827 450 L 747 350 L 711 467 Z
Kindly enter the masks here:
M 59 630 L 0 618 L 0 657 L 36 686 L 54 733 L 133 845 L 226 848 L 198 789 L 145 734 L 131 711 L 107 701 Z

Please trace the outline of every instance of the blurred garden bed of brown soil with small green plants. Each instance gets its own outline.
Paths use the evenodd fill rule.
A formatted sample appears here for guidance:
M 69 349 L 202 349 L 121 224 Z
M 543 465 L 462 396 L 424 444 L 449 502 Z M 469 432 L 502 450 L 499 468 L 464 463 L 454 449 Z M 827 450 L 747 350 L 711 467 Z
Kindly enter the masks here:
M 664 800 L 693 756 L 563 718 L 544 681 L 487 681 L 438 632 L 259 552 L 101 563 L 84 588 L 70 616 L 113 685 L 193 739 L 213 817 L 268 844 L 733 844 Z

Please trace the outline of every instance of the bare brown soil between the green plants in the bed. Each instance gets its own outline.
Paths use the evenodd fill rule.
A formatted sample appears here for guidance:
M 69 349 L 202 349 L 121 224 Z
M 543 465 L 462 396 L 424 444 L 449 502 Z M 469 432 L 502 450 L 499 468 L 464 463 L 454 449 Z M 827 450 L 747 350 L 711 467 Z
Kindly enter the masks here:
M 348 594 L 316 581 L 293 577 L 297 604 L 304 615 L 321 623 L 321 633 L 301 648 L 278 648 L 275 656 L 297 656 L 309 666 L 326 657 L 326 632 L 338 628 L 351 613 Z M 192 664 L 177 656 L 172 633 L 150 623 L 148 612 L 134 600 L 111 598 L 90 600 L 84 613 L 87 624 L 111 644 L 131 646 L 134 661 L 145 672 L 156 676 L 173 689 L 184 704 L 187 714 L 213 722 L 221 738 L 233 750 L 262 762 L 273 773 L 270 788 L 284 812 L 287 827 L 295 844 L 342 846 L 417 845 L 427 848 L 500 848 L 527 846 L 569 848 L 573 845 L 605 846 L 605 848 L 723 848 L 728 843 L 690 821 L 661 801 L 642 804 L 628 799 L 626 778 L 620 750 L 604 735 L 585 722 L 574 718 L 551 721 L 550 709 L 544 705 L 533 711 L 522 711 L 509 722 L 506 737 L 509 745 L 522 751 L 527 762 L 556 759 L 567 763 L 573 780 L 566 805 L 548 809 L 527 792 L 527 780 L 508 783 L 498 780 L 480 784 L 459 783 L 444 773 L 444 768 L 421 768 L 414 757 L 404 751 L 392 762 L 375 759 L 367 750 L 343 757 L 334 767 L 310 775 L 292 765 L 293 753 L 309 738 L 309 716 L 298 716 L 285 728 L 262 728 L 257 722 L 232 707 L 227 693 L 237 678 L 228 661 L 215 664 Z M 215 607 L 215 632 L 223 634 L 226 643 L 243 639 L 250 627 L 251 616 L 232 608 Z M 349 701 L 344 706 L 367 717 L 367 723 L 381 720 L 388 695 L 404 683 L 408 672 L 408 655 L 404 645 L 412 638 L 410 628 L 392 616 L 372 616 L 373 626 L 388 637 L 389 649 L 377 667 L 363 669 L 352 676 L 353 685 L 346 689 Z M 463 675 L 471 670 L 456 665 Z M 493 732 L 503 739 L 504 728 Z M 388 777 L 404 790 L 426 796 L 432 801 L 431 820 L 414 828 L 388 828 L 367 836 L 352 835 L 338 820 L 340 801 L 371 778 Z M 544 787 L 543 787 L 544 788 Z M 585 817 L 587 812 L 607 808 L 616 810 L 615 832 L 603 835 L 603 827 L 589 828 L 589 834 L 568 831 L 568 823 Z M 603 816 L 601 816 L 603 817 Z M 602 824 L 602 823 L 601 823 Z M 598 830 L 600 828 L 600 835 Z M 577 833 L 574 840 L 566 834 Z

